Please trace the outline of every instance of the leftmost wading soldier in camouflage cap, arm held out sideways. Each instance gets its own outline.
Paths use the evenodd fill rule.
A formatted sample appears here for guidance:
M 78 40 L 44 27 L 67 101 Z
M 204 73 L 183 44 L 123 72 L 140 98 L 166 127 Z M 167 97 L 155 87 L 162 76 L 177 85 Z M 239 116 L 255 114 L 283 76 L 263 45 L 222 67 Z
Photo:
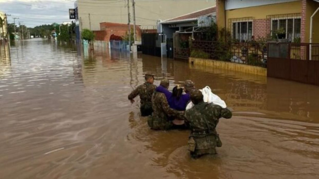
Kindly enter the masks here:
M 130 95 L 128 96 L 129 100 L 133 104 L 134 98 L 137 97 L 137 95 L 140 96 L 141 99 L 141 116 L 149 116 L 152 115 L 152 95 L 156 89 L 156 86 L 154 83 L 154 75 L 146 74 L 145 75 L 145 83 L 138 86 L 136 89 L 134 89 Z

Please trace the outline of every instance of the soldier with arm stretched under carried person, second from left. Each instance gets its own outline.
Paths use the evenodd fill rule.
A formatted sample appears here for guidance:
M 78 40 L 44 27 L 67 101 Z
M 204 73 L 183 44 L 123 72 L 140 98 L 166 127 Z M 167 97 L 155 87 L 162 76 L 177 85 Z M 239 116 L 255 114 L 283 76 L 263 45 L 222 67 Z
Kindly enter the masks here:
M 160 85 L 168 89 L 169 81 L 163 79 Z M 174 124 L 168 120 L 169 116 L 173 116 L 177 119 L 184 120 L 184 111 L 177 111 L 169 107 L 166 96 L 164 93 L 155 91 L 152 96 L 152 116 L 148 119 L 147 124 L 152 129 L 168 130 L 171 129 Z

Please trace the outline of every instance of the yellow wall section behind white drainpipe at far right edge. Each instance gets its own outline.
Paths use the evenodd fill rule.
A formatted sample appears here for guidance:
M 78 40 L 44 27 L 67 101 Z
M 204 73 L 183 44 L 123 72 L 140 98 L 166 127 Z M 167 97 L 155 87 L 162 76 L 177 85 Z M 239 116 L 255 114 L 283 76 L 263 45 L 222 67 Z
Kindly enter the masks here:
M 319 7 L 319 3 L 315 1 L 307 1 L 306 4 L 306 39 L 305 42 L 308 43 L 310 40 L 310 17 Z M 319 12 L 313 18 L 312 22 L 312 43 L 319 43 Z

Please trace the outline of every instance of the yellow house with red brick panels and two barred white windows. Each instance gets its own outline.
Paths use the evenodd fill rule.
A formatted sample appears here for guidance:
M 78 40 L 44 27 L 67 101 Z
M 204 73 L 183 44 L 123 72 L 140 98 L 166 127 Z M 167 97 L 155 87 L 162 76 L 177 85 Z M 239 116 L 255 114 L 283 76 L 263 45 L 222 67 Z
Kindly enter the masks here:
M 318 8 L 319 0 L 217 0 L 216 17 L 219 30 L 239 41 L 269 38 L 283 29 L 289 42 L 319 43 Z

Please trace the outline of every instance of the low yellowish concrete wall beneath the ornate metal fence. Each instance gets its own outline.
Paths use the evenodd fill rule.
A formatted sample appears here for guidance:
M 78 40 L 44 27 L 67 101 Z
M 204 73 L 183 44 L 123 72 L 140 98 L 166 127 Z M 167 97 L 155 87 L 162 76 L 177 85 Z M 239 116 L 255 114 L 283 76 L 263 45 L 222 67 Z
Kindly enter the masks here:
M 267 76 L 267 68 L 256 67 L 251 65 L 245 65 L 240 63 L 232 63 L 226 61 L 216 61 L 210 59 L 189 58 L 189 63 L 194 66 L 201 65 L 213 68 L 221 68 L 232 71 L 239 71 L 243 73 L 249 73 L 254 75 Z

